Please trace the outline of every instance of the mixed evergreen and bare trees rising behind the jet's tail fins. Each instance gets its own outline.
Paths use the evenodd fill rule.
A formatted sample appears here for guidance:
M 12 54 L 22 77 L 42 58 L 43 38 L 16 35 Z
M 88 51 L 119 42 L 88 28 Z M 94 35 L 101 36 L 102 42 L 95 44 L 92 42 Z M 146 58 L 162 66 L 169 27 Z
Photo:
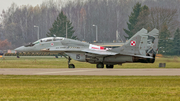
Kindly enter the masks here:
M 151 8 L 136 3 L 127 22 L 127 29 L 124 32 L 132 37 L 142 28 L 151 31 L 159 29 L 159 50 L 160 54 L 179 55 L 180 53 L 180 30 L 177 21 L 177 10 L 167 8 Z

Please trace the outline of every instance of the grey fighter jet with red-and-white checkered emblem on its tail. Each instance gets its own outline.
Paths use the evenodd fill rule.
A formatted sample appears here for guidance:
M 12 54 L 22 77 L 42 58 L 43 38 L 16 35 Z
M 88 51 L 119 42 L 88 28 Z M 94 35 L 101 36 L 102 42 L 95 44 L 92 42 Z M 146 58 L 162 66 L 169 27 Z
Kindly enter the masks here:
M 63 37 L 48 37 L 16 48 L 17 52 L 59 53 L 68 59 L 68 67 L 75 68 L 71 59 L 96 64 L 97 68 L 113 68 L 123 63 L 154 63 L 159 31 L 142 29 L 119 48 L 105 48 Z M 151 39 L 151 40 L 150 40 Z

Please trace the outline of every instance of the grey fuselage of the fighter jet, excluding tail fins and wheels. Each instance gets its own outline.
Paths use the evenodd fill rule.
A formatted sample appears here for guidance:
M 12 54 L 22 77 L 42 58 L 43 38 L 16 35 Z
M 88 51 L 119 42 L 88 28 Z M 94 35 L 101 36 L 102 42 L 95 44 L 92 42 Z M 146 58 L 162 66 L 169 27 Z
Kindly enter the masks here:
M 63 37 L 48 37 L 37 40 L 28 45 L 21 46 L 15 49 L 17 52 L 51 52 L 66 54 L 74 60 L 80 62 L 89 62 L 92 64 L 104 63 L 104 64 L 122 64 L 126 62 L 142 62 L 141 59 L 137 59 L 130 55 L 100 55 L 102 52 L 111 52 L 111 49 L 101 47 L 98 45 L 89 44 L 73 39 L 67 39 Z M 90 52 L 89 52 L 90 51 Z M 96 52 L 92 54 L 93 52 Z M 127 50 L 128 51 L 128 50 Z M 118 53 L 119 49 L 114 53 Z M 113 54 L 113 52 L 112 52 Z M 146 60 L 145 60 L 146 61 Z

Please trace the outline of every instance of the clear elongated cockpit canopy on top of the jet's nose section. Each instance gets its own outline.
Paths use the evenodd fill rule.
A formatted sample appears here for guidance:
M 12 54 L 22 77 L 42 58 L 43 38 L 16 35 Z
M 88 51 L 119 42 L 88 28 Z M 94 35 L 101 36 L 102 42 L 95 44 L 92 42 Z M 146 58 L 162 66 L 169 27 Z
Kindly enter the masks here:
M 64 38 L 62 38 L 62 37 L 48 37 L 48 38 L 43 38 L 43 39 L 37 40 L 33 43 L 29 43 L 28 45 L 25 45 L 25 47 L 32 47 L 36 44 L 43 43 L 43 42 L 61 41 L 61 40 L 64 40 Z

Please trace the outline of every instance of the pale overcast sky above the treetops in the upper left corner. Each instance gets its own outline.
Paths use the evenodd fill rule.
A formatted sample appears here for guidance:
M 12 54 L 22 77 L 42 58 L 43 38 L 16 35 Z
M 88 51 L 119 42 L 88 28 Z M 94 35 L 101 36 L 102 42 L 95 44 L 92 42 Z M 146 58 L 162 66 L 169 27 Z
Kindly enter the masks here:
M 41 4 L 43 1 L 46 0 L 0 0 L 0 14 L 2 13 L 3 9 L 7 10 L 13 2 L 18 6 L 27 4 L 36 6 L 37 4 Z

